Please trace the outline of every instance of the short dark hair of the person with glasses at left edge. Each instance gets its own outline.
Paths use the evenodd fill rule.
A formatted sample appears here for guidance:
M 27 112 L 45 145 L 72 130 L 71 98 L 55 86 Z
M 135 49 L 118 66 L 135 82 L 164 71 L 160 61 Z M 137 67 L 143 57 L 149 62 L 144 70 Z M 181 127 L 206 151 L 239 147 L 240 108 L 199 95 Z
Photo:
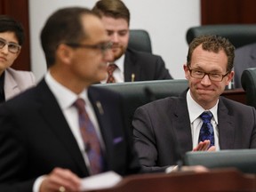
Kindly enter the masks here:
M 0 33 L 13 32 L 20 45 L 23 44 L 25 35 L 22 24 L 8 15 L 0 15 Z

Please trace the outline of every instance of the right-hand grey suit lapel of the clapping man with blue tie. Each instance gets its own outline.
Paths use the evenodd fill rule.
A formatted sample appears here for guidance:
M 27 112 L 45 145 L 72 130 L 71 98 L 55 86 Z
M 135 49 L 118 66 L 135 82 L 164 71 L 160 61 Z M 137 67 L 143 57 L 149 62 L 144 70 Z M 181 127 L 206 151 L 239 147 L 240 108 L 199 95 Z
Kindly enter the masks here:
M 234 148 L 235 119 L 234 116 L 229 115 L 228 108 L 221 97 L 218 106 L 218 121 L 220 149 Z

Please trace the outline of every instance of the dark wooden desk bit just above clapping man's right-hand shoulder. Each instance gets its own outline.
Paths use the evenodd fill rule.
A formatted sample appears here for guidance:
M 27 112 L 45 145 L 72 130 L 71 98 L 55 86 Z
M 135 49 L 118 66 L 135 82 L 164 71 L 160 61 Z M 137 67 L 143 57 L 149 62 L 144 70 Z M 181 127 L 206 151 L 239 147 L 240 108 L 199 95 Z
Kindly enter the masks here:
M 246 95 L 244 92 L 244 89 L 234 89 L 234 90 L 226 90 L 221 94 L 221 96 L 224 96 L 230 100 L 236 100 L 238 102 L 244 103 L 246 105 Z

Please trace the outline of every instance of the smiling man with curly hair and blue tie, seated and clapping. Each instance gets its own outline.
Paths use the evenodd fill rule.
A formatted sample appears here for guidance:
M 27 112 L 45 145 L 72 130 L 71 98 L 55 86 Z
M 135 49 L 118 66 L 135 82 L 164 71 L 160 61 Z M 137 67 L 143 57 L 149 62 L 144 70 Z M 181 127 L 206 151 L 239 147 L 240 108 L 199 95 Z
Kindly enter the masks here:
M 256 148 L 256 110 L 221 97 L 234 76 L 235 47 L 220 36 L 198 36 L 184 64 L 189 89 L 156 100 L 133 116 L 140 164 L 164 170 L 188 151 Z

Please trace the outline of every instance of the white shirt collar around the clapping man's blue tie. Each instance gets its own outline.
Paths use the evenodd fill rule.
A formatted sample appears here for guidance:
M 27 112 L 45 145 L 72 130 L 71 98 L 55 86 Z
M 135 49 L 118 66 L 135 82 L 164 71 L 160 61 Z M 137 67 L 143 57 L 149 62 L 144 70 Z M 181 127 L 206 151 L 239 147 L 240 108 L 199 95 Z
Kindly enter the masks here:
M 218 103 L 217 101 L 216 105 L 213 106 L 213 108 L 210 108 L 209 111 L 212 112 L 213 119 L 215 120 L 216 124 L 218 124 L 218 116 L 217 116 L 217 109 L 218 109 Z M 187 92 L 187 104 L 188 104 L 188 114 L 190 118 L 190 123 L 192 124 L 198 116 L 200 116 L 205 109 L 202 108 L 198 103 L 196 103 L 195 100 L 191 97 L 191 92 L 188 90 Z

